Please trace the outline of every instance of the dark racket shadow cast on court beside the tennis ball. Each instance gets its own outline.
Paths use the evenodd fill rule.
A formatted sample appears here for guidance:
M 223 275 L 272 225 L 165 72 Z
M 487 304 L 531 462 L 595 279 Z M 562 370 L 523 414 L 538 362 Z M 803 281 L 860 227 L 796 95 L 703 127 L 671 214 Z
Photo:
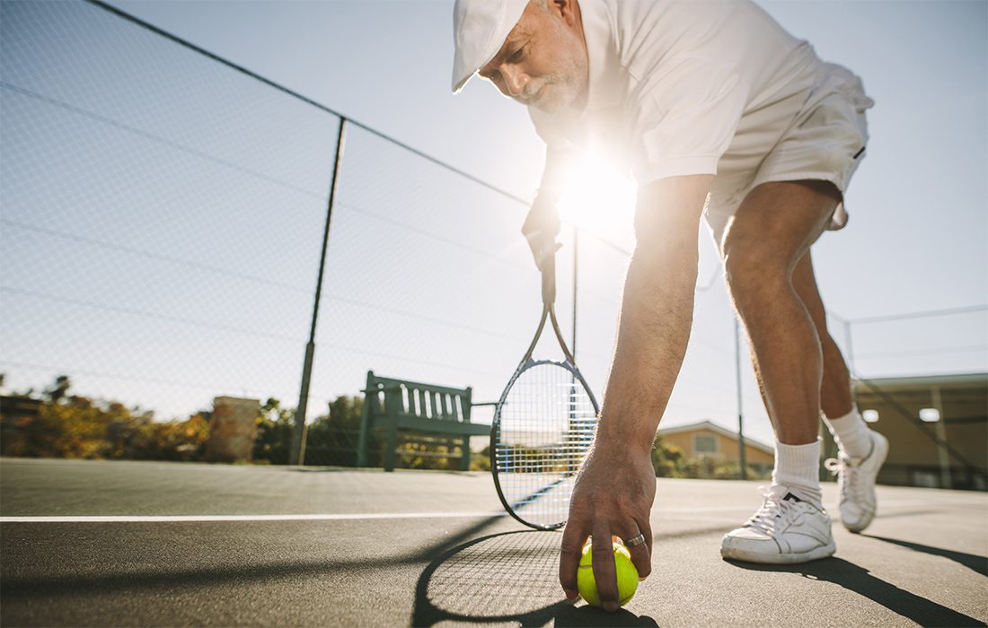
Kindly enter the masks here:
M 543 626 L 657 626 L 626 609 L 576 606 L 559 588 L 558 532 L 519 530 L 461 543 L 432 561 L 415 587 L 412 626 L 440 622 Z M 582 602 L 578 602 L 582 604 Z

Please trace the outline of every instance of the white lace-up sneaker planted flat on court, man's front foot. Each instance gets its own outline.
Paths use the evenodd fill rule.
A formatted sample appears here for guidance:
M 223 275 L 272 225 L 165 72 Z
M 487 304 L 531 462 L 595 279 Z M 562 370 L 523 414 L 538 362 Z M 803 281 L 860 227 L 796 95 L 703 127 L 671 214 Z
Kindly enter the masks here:
M 748 521 L 724 535 L 720 556 L 749 563 L 791 565 L 837 551 L 830 515 L 802 502 L 784 486 L 765 491 L 765 502 Z

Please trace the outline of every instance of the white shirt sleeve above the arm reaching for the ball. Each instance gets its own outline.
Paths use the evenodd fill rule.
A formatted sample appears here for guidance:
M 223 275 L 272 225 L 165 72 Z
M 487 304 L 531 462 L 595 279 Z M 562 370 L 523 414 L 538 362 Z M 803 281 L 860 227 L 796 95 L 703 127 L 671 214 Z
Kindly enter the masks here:
M 671 59 L 648 73 L 627 108 L 631 168 L 638 185 L 716 174 L 746 98 L 737 70 L 722 61 Z

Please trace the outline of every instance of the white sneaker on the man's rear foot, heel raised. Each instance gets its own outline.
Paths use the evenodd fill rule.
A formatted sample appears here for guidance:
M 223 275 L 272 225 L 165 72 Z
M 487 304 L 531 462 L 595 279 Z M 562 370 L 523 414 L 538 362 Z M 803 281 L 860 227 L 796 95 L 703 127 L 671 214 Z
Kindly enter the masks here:
M 840 451 L 837 458 L 823 463 L 837 476 L 841 522 L 852 532 L 861 532 L 874 518 L 877 510 L 874 479 L 887 455 L 888 440 L 878 432 L 871 432 L 871 453 L 866 457 L 855 459 Z

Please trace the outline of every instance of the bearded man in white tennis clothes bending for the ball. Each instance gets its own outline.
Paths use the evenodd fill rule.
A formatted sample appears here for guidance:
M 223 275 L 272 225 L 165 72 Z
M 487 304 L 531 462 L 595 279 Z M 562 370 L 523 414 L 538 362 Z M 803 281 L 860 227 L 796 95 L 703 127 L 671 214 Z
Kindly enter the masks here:
M 523 226 L 536 263 L 555 246 L 555 204 L 575 152 L 617 160 L 638 185 L 617 346 L 562 538 L 567 596 L 577 596 L 588 536 L 605 608 L 617 608 L 612 534 L 629 541 L 642 577 L 651 571 L 650 450 L 690 336 L 701 214 L 776 433 L 771 490 L 723 537 L 721 555 L 769 564 L 832 555 L 821 414 L 839 444 L 830 466 L 852 531 L 874 515 L 888 450 L 854 405 L 810 255 L 825 230 L 847 222 L 843 193 L 873 105 L 861 80 L 748 1 L 457 0 L 453 28 L 453 92 L 479 74 L 529 108 L 545 141 Z

